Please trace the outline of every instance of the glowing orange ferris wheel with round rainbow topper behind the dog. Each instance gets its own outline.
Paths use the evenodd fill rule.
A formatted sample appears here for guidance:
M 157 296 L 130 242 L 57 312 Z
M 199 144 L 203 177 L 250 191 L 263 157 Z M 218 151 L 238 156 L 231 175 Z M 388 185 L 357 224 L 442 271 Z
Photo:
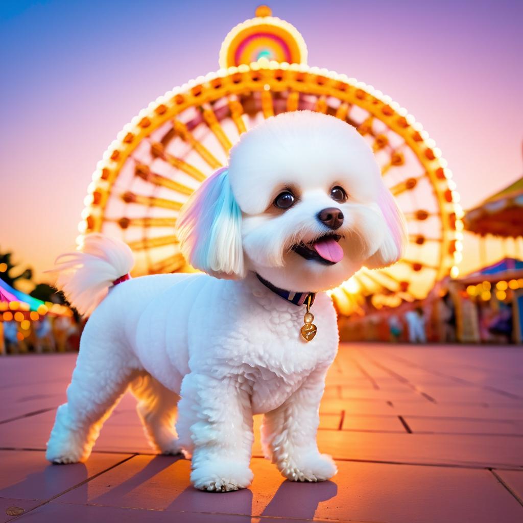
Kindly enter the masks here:
M 264 118 L 310 109 L 357 128 L 405 213 L 409 243 L 393 267 L 361 269 L 331 291 L 343 314 L 423 299 L 458 275 L 463 225 L 447 162 L 422 125 L 372 86 L 306 64 L 302 36 L 260 6 L 222 43 L 221 69 L 157 98 L 118 134 L 97 164 L 79 230 L 121 237 L 133 275 L 193 270 L 175 235 L 178 211 L 227 162 L 240 135 Z

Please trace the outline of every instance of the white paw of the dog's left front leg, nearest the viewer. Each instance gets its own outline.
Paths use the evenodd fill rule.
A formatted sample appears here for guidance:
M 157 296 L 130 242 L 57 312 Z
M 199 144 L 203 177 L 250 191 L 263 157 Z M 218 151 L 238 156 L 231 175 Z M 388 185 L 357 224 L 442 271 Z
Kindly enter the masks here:
M 202 491 L 231 492 L 247 488 L 253 481 L 251 469 L 240 463 L 213 460 L 195 467 L 191 483 Z

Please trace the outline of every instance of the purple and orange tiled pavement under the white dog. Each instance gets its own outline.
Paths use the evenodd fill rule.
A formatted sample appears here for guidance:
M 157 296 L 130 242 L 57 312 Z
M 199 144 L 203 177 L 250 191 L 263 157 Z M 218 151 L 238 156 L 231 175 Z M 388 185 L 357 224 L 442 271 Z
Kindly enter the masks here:
M 318 438 L 333 481 L 284 481 L 257 438 L 254 483 L 226 494 L 152 454 L 129 396 L 85 464 L 48 464 L 74 360 L 0 359 L 0 521 L 12 506 L 22 522 L 523 521 L 523 347 L 342 345 Z

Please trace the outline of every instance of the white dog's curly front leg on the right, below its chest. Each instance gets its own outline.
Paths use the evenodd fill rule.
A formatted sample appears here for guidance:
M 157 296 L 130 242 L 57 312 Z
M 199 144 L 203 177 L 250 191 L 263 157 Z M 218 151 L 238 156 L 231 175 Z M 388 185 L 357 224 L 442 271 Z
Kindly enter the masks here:
M 325 481 L 334 461 L 320 454 L 316 432 L 327 368 L 315 369 L 282 405 L 264 416 L 261 439 L 266 456 L 292 481 Z

